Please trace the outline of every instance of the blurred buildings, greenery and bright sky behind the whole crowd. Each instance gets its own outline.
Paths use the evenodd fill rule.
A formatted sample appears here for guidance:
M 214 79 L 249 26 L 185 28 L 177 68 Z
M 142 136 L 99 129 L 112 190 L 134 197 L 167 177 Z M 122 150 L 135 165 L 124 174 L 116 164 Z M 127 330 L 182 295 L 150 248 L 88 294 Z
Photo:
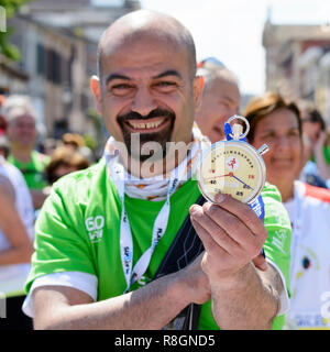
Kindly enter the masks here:
M 233 70 L 242 109 L 266 89 L 308 99 L 330 123 L 327 0 L 0 0 L 0 95 L 29 95 L 40 143 L 84 136 L 97 156 L 107 131 L 89 88 L 97 43 L 117 18 L 141 8 L 174 15 L 193 33 L 198 59 Z

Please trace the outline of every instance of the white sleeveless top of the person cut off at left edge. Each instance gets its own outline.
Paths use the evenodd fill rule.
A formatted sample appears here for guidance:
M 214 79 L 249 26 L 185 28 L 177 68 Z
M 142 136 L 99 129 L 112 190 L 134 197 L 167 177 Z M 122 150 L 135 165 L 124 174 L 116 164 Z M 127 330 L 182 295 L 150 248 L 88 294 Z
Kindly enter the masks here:
M 29 238 L 33 241 L 34 209 L 24 177 L 15 166 L 8 163 L 2 156 L 0 156 L 0 175 L 7 177 L 12 184 L 15 193 L 15 207 L 25 224 Z M 0 253 L 10 246 L 7 235 L 0 229 Z M 7 296 L 22 294 L 29 272 L 30 264 L 28 263 L 0 265 L 0 293 Z

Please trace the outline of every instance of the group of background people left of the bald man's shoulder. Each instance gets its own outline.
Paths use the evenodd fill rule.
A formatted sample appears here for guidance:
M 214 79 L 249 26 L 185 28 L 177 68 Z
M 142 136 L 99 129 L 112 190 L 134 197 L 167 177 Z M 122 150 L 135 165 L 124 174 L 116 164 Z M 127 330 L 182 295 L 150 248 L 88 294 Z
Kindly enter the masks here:
M 77 133 L 65 133 L 46 154 L 37 151 L 36 113 L 28 96 L 2 97 L 0 113 L 0 293 L 8 316 L 0 327 L 31 329 L 21 307 L 37 213 L 53 183 L 91 162 L 79 152 L 85 143 Z

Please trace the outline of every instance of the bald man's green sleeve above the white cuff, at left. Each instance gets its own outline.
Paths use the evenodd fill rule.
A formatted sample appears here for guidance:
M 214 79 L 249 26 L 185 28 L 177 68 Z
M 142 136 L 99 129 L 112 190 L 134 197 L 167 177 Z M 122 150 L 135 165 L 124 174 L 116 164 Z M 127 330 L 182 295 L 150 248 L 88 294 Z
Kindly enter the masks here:
M 58 183 L 46 199 L 35 223 L 35 252 L 25 289 L 42 275 L 82 272 L 96 275 L 89 243 L 85 238 L 84 218 L 75 185 Z M 59 187 L 61 186 L 61 187 Z

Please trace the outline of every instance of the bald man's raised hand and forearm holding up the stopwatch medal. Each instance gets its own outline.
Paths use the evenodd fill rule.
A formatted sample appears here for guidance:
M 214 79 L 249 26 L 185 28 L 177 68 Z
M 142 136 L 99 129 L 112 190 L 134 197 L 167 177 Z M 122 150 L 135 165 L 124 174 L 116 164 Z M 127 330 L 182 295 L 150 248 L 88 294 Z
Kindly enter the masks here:
M 255 267 L 266 264 L 260 253 L 267 231 L 248 205 L 223 195 L 216 201 L 190 208 L 205 246 L 201 268 L 209 279 L 215 321 L 220 329 L 271 329 L 283 285 L 271 265 L 265 273 Z

